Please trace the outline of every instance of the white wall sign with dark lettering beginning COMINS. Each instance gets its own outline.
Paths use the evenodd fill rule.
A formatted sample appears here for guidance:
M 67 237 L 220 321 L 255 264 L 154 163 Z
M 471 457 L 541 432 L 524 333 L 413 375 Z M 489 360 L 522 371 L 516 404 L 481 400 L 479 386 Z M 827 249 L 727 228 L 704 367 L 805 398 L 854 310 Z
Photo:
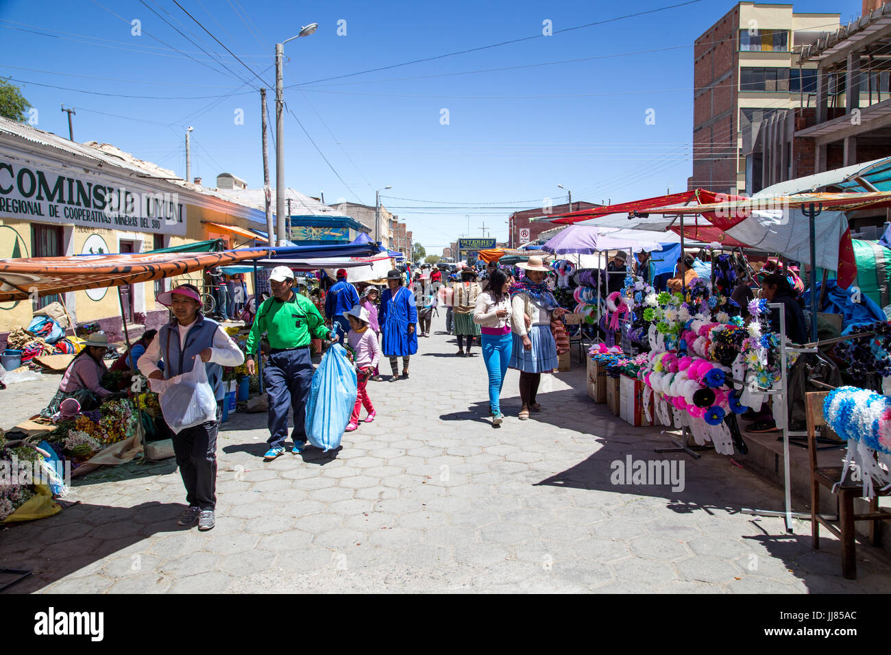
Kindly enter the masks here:
M 152 191 L 102 176 L 86 181 L 48 167 L 0 160 L 0 216 L 37 223 L 82 225 L 128 232 L 185 234 L 184 206 L 177 193 Z

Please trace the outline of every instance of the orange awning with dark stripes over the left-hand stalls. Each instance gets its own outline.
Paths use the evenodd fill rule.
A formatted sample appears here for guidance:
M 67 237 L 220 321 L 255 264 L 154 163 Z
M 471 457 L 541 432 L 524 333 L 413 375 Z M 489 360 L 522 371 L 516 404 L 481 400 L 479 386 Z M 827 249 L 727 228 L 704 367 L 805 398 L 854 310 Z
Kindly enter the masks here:
M 0 301 L 119 287 L 268 256 L 269 250 L 251 249 L 0 259 Z

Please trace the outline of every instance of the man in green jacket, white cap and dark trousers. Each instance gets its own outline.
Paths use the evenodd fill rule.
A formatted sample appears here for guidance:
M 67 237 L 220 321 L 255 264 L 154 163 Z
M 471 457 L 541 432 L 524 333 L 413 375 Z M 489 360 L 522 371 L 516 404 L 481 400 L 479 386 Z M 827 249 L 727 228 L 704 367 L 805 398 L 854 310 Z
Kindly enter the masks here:
M 257 317 L 248 335 L 248 373 L 254 374 L 254 352 L 260 336 L 272 347 L 268 364 L 263 369 L 263 381 L 269 398 L 266 416 L 269 424 L 269 450 L 264 455 L 272 462 L 284 453 L 288 437 L 288 405 L 294 409 L 294 430 L 291 452 L 299 454 L 307 446 L 304 427 L 307 417 L 307 397 L 313 381 L 313 364 L 309 344 L 312 339 L 333 340 L 331 329 L 309 300 L 291 289 L 294 272 L 288 266 L 275 266 L 269 275 L 272 298 L 257 307 Z

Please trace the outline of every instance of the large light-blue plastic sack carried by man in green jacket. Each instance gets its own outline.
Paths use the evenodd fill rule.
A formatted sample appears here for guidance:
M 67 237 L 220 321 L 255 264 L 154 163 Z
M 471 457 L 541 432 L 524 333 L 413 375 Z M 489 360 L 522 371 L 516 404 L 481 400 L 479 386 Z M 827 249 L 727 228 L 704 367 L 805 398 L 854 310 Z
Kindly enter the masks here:
M 339 343 L 331 345 L 313 373 L 307 400 L 307 439 L 324 451 L 340 446 L 340 438 L 356 405 L 356 368 Z

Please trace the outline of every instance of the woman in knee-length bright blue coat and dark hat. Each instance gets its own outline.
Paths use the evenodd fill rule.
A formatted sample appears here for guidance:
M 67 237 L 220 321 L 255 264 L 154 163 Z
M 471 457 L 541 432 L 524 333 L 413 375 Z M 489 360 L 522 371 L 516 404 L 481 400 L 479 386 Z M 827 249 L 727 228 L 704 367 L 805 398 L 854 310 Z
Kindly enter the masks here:
M 390 360 L 393 371 L 391 382 L 399 379 L 397 357 L 402 357 L 402 378 L 405 380 L 408 378 L 409 358 L 418 352 L 418 335 L 414 332 L 418 310 L 414 306 L 412 292 L 402 282 L 399 271 L 390 271 L 387 274 L 388 289 L 380 297 L 380 349 Z

